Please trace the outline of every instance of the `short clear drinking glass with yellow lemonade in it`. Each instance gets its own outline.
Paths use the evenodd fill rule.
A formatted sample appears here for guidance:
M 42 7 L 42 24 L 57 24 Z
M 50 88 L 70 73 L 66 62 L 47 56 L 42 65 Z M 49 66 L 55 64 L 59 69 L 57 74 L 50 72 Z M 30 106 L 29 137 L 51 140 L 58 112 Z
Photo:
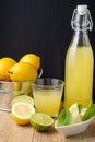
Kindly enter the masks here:
M 36 111 L 56 117 L 60 109 L 63 81 L 58 79 L 37 79 L 33 82 L 32 87 Z

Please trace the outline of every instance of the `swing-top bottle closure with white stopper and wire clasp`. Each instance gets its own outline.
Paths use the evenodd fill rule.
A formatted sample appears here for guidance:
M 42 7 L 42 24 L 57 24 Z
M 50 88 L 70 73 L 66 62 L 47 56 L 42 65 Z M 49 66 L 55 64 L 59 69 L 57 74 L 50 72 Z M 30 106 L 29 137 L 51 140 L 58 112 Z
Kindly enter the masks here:
M 92 31 L 93 21 L 86 4 L 76 5 L 76 9 L 74 9 L 72 14 L 71 26 L 74 31 Z

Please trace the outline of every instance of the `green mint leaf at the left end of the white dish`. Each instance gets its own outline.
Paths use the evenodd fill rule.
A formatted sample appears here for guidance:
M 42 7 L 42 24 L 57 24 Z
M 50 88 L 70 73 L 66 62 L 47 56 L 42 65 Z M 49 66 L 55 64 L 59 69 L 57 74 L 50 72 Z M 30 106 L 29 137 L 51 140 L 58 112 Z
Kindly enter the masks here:
M 69 109 L 62 109 L 58 116 L 58 126 L 67 126 L 70 125 L 71 114 Z

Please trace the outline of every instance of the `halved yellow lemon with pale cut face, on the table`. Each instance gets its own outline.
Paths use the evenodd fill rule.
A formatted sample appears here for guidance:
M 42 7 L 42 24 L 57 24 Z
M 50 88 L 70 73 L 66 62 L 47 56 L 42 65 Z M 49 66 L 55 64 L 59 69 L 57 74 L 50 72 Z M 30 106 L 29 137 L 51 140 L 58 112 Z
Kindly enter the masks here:
M 29 122 L 29 118 L 34 113 L 33 105 L 22 102 L 12 105 L 11 117 L 16 123 L 26 125 Z

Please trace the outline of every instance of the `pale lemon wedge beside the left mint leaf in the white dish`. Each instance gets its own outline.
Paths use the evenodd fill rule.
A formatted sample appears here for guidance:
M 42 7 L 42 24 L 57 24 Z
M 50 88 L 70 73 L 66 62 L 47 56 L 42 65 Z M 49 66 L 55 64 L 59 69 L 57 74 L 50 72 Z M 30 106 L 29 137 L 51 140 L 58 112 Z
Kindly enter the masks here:
M 71 113 L 71 123 L 78 123 L 81 121 L 81 117 L 80 117 L 80 113 L 79 113 L 79 107 L 78 104 L 73 104 L 70 108 L 69 108 L 70 113 Z

